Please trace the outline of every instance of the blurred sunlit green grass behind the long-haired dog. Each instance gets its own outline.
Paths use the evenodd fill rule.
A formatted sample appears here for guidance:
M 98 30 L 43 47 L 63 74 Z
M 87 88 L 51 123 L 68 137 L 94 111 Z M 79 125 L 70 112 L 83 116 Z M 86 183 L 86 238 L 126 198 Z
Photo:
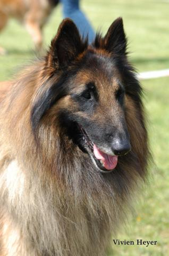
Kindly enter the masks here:
M 138 71 L 169 68 L 169 1 L 155 0 L 83 0 L 95 29 L 103 34 L 112 21 L 121 16 L 129 38 L 130 59 Z M 59 5 L 44 29 L 44 45 L 50 43 L 62 20 Z M 0 34 L 0 45 L 8 54 L 0 56 L 0 80 L 15 75 L 18 68 L 34 58 L 33 43 L 26 29 L 10 20 Z M 145 106 L 149 118 L 150 146 L 155 166 L 149 186 L 138 202 L 129 225 L 112 239 L 157 241 L 157 245 L 113 245 L 108 256 L 169 255 L 169 77 L 142 81 L 146 91 Z M 96 245 L 97 246 L 97 245 Z M 80 256 L 80 255 L 79 255 Z M 92 256 L 92 255 L 90 255 Z

